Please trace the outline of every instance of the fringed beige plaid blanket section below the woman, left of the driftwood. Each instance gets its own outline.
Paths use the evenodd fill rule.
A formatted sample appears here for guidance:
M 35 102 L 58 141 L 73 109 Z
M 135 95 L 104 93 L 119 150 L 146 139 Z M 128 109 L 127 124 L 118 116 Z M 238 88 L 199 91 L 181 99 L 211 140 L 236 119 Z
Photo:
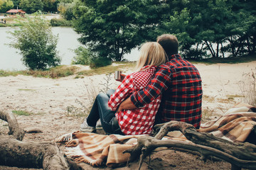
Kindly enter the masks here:
M 129 154 L 122 152 L 136 145 L 137 138 L 142 136 L 145 135 L 99 135 L 78 131 L 58 137 L 55 142 L 66 142 L 65 154 L 75 162 L 112 166 L 127 162 Z

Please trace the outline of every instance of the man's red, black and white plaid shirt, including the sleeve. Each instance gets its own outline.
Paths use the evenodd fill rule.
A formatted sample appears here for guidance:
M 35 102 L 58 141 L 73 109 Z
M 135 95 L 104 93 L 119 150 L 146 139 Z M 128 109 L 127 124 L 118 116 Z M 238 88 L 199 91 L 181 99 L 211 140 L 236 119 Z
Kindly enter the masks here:
M 156 117 L 161 123 L 177 120 L 200 128 L 203 91 L 193 64 L 178 54 L 172 55 L 169 62 L 159 66 L 149 86 L 132 94 L 131 100 L 140 108 L 159 95 L 162 98 Z

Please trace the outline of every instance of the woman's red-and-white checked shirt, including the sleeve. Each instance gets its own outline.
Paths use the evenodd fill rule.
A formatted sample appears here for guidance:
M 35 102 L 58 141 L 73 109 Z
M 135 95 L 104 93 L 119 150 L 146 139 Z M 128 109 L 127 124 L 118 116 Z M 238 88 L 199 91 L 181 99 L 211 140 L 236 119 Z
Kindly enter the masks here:
M 116 111 L 119 104 L 122 103 L 124 99 L 149 84 L 156 73 L 156 67 L 153 66 L 149 69 L 143 70 L 146 67 L 149 66 L 143 67 L 140 72 L 134 72 L 127 75 L 114 94 L 110 96 L 108 106 L 112 111 Z M 124 110 L 119 113 L 115 113 L 124 135 L 150 134 L 152 132 L 156 112 L 159 109 L 160 102 L 161 96 L 158 96 L 143 108 Z

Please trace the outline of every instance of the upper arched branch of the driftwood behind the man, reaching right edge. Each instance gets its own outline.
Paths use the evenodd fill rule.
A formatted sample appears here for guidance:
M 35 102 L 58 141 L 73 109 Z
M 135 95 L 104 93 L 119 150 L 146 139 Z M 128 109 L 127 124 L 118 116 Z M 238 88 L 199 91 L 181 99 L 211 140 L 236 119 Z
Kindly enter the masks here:
M 239 159 L 254 160 L 256 161 L 256 145 L 248 142 L 230 142 L 228 140 L 215 137 L 214 135 L 206 132 L 198 132 L 193 125 L 177 121 L 170 121 L 169 123 L 158 125 L 161 130 L 155 136 L 156 139 L 161 139 L 169 131 L 179 130 L 183 135 L 198 145 L 204 145 L 219 149 L 225 153 L 238 157 Z

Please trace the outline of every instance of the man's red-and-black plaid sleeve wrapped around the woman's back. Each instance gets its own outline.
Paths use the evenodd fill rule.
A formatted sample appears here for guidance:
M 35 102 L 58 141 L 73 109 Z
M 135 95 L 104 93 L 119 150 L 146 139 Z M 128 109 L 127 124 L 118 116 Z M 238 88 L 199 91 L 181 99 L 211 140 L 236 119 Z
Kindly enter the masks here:
M 141 108 L 146 104 L 156 99 L 159 95 L 164 94 L 171 82 L 171 71 L 164 67 L 159 67 L 159 70 L 154 75 L 149 86 L 136 91 L 131 95 L 131 101 L 137 108 Z

